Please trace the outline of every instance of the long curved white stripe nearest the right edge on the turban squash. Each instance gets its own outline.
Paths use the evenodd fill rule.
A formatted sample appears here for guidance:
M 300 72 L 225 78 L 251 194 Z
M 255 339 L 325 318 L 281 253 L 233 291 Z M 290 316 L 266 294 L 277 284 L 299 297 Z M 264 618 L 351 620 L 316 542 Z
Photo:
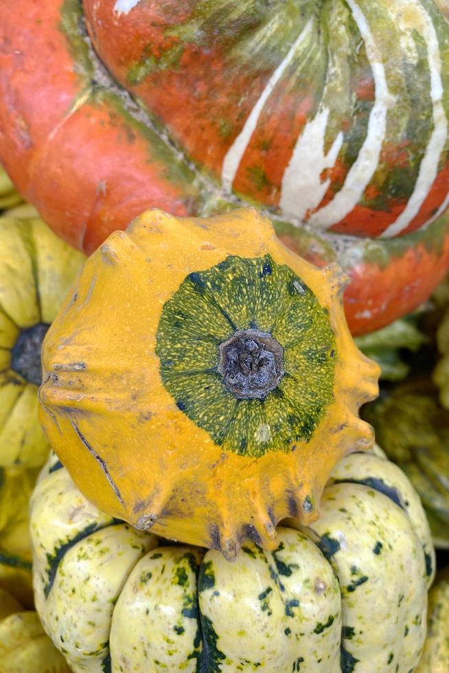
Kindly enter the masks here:
M 404 16 L 411 15 L 413 9 L 413 25 L 422 35 L 427 45 L 428 66 L 430 70 L 430 98 L 433 102 L 433 133 L 430 136 L 426 152 L 422 158 L 415 189 L 400 216 L 382 233 L 381 238 L 398 236 L 408 227 L 419 213 L 424 201 L 432 189 L 438 174 L 439 158 L 448 137 L 448 119 L 443 107 L 443 82 L 441 81 L 441 54 L 438 36 L 428 12 L 416 0 L 396 0 L 396 6 L 404 11 Z M 417 21 L 421 25 L 417 27 Z M 411 27 L 410 27 L 411 30 Z M 442 211 L 441 211 L 442 213 Z M 440 213 L 440 214 L 441 214 Z M 436 219 L 436 218 L 435 218 Z

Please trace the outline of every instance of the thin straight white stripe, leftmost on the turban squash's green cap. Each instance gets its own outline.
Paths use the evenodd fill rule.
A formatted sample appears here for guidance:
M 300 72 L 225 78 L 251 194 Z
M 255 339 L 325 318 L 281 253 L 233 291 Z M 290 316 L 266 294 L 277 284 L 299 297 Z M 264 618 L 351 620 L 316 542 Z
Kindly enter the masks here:
M 242 157 L 246 151 L 246 148 L 249 146 L 251 137 L 253 136 L 255 127 L 257 126 L 257 122 L 259 121 L 260 114 L 264 109 L 266 101 L 270 97 L 271 93 L 273 93 L 273 89 L 275 88 L 277 82 L 279 82 L 281 77 L 284 75 L 286 68 L 295 55 L 297 47 L 299 47 L 301 42 L 303 42 L 307 38 L 308 34 L 310 34 L 312 25 L 313 19 L 309 19 L 306 26 L 303 28 L 295 42 L 288 50 L 288 53 L 284 59 L 279 63 L 272 76 L 268 80 L 264 91 L 262 91 L 260 97 L 257 99 L 257 102 L 251 110 L 249 117 L 246 118 L 246 122 L 244 123 L 242 130 L 227 151 L 225 159 L 222 163 L 221 172 L 222 187 L 223 190 L 227 192 L 227 194 L 229 194 L 229 192 L 232 190 L 233 181 L 235 180 L 235 175 L 238 172 L 238 167 L 240 166 L 240 162 L 242 161 Z

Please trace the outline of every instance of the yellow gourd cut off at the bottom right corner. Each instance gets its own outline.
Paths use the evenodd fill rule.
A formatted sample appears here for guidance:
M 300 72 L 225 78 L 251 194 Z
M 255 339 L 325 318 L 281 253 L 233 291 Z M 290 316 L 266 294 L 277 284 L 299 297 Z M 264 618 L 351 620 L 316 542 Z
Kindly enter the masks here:
M 416 673 L 449 671 L 449 573 L 442 573 L 429 593 L 428 631 Z

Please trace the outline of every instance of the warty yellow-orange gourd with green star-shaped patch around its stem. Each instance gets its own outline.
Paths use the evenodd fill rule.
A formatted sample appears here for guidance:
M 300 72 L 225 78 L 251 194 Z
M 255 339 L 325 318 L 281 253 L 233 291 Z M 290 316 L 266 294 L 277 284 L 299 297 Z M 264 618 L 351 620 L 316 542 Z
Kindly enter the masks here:
M 274 549 L 285 516 L 316 518 L 336 461 L 372 444 L 357 411 L 379 370 L 343 284 L 253 209 L 149 211 L 109 237 L 43 346 L 41 422 L 80 490 L 227 558 L 246 538 Z

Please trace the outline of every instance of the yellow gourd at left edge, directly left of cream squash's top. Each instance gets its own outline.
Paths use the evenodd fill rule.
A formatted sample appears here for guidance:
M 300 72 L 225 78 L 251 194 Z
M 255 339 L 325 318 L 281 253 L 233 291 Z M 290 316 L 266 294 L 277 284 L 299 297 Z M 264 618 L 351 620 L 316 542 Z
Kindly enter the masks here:
M 25 608 L 33 606 L 28 507 L 35 481 L 34 470 L 0 468 L 0 590 Z

